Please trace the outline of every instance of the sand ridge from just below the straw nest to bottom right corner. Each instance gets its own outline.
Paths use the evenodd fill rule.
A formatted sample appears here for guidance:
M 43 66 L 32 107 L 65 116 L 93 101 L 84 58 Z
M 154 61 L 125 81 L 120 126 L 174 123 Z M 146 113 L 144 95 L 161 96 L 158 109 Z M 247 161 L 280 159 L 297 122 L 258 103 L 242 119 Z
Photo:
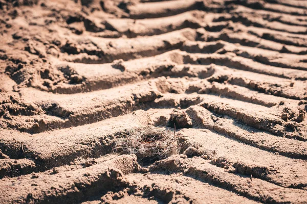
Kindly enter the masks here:
M 225 172 L 223 168 L 209 162 L 210 160 L 206 161 L 202 158 L 185 159 L 173 156 L 156 162 L 150 166 L 150 170 L 184 172 L 184 175 L 266 203 L 303 203 L 306 199 L 304 190 L 284 188 L 256 178 L 251 181 L 250 177 Z

